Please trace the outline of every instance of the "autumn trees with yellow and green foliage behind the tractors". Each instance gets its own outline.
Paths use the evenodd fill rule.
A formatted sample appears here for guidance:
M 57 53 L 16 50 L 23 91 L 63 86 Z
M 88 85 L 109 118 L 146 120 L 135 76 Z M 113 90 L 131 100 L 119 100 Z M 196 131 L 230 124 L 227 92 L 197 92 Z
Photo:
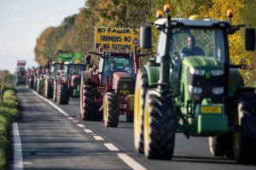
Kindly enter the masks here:
M 256 0 L 87 0 L 79 14 L 67 16 L 60 26 L 46 28 L 37 39 L 36 60 L 46 65 L 56 59 L 59 49 L 88 54 L 95 51 L 95 26 L 121 26 L 139 28 L 154 22 L 156 11 L 171 3 L 172 17 L 188 18 L 200 14 L 203 18 L 226 20 L 227 9 L 234 11 L 232 24 L 248 24 L 256 28 Z M 156 51 L 158 31 L 153 30 L 153 54 Z M 245 59 L 251 69 L 241 71 L 245 82 L 256 86 L 255 52 L 244 48 L 244 30 L 230 36 L 230 57 L 234 64 Z

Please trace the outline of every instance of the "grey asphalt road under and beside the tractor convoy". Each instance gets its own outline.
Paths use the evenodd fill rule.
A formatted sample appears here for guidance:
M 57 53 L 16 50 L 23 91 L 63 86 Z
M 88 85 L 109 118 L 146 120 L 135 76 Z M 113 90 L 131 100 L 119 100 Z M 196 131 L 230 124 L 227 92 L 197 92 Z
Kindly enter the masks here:
M 71 99 L 69 105 L 58 105 L 68 114 L 64 116 L 30 89 L 18 88 L 18 97 L 22 105 L 22 118 L 18 126 L 24 169 L 256 168 L 253 165 L 239 165 L 223 157 L 213 157 L 207 138 L 186 139 L 181 133 L 176 134 L 172 161 L 148 160 L 134 151 L 133 123 L 125 122 L 125 116 L 120 116 L 119 127 L 107 128 L 103 122 L 80 120 L 79 99 Z M 80 127 L 78 124 L 81 124 Z M 84 128 L 92 132 L 84 133 Z M 103 139 L 96 140 L 95 136 Z M 109 150 L 105 144 L 113 144 L 119 150 Z M 130 156 L 135 162 L 123 161 L 120 154 Z M 136 162 L 142 167 L 132 167 Z

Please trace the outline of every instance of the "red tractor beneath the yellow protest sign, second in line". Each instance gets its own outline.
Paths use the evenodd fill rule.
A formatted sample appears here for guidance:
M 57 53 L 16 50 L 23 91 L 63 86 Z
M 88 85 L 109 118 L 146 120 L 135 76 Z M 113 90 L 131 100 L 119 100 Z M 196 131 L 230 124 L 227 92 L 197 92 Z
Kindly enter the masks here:
M 100 52 L 99 65 L 82 72 L 80 115 L 85 121 L 102 121 L 106 127 L 117 127 L 119 115 L 133 121 L 135 78 L 140 61 L 147 54 Z

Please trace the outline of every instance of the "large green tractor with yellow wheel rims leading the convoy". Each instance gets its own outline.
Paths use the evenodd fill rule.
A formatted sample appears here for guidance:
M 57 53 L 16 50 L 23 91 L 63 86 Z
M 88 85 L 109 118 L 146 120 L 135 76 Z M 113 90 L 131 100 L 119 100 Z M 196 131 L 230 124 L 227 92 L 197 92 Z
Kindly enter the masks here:
M 170 160 L 175 133 L 207 136 L 213 156 L 255 161 L 256 94 L 230 64 L 228 37 L 242 26 L 225 20 L 174 19 L 160 31 L 154 66 L 138 71 L 134 105 L 134 144 L 149 159 Z M 158 12 L 163 14 L 163 12 Z M 229 13 L 231 19 L 232 14 Z M 141 47 L 151 47 L 150 26 L 141 28 Z M 196 43 L 195 43 L 196 40 Z M 246 26 L 246 49 L 255 49 L 255 31 Z M 254 158 L 254 159 L 253 159 Z

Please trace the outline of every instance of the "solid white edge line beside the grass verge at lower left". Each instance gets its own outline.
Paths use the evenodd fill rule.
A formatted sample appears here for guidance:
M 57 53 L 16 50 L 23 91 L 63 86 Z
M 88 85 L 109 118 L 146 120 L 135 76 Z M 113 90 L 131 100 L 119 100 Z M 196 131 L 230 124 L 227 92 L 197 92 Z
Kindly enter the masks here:
M 18 124 L 13 123 L 13 135 L 14 135 L 14 152 L 15 152 L 15 160 L 14 160 L 14 170 L 22 170 L 23 169 L 23 158 L 22 158 L 22 147 L 20 142 L 20 133 Z

